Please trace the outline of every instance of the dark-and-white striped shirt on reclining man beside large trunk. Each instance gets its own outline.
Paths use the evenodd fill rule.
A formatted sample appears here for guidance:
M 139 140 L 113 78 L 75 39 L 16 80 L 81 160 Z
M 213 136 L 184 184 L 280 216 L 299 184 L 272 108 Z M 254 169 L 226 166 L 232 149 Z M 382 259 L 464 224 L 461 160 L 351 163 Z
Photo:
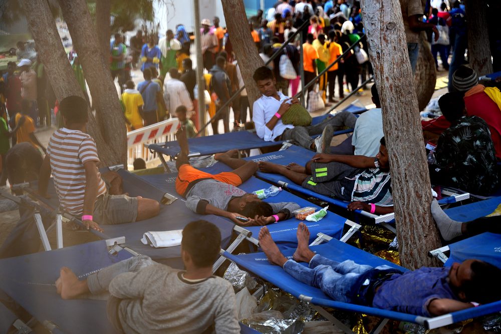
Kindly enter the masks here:
M 370 202 L 379 206 L 392 206 L 391 176 L 389 170 L 368 168 L 357 176 L 353 190 L 352 201 Z

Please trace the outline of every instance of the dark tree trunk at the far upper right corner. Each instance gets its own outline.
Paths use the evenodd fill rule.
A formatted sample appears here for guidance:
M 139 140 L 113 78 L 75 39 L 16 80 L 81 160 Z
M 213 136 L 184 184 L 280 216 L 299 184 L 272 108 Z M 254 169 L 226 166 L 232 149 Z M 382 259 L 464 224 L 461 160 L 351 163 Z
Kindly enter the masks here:
M 469 66 L 475 70 L 479 77 L 493 72 L 486 5 L 485 0 L 467 0 L 465 2 Z

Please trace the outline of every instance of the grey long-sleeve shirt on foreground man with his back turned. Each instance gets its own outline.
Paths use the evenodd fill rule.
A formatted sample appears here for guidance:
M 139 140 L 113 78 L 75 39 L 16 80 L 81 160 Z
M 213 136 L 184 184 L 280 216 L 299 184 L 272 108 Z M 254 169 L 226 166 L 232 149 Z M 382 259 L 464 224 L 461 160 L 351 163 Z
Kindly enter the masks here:
M 239 333 L 231 284 L 216 276 L 190 282 L 181 273 L 153 264 L 113 278 L 109 291 L 122 299 L 118 317 L 124 331 L 195 334 L 214 325 L 218 334 Z

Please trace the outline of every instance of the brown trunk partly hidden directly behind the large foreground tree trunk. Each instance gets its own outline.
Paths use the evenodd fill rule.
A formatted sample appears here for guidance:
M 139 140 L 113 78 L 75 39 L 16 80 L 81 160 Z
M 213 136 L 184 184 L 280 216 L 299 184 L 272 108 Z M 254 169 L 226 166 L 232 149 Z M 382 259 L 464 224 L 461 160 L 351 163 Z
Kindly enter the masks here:
M 423 110 L 430 102 L 435 84 L 437 71 L 435 60 L 431 54 L 431 48 L 426 39 L 426 33 L 421 32 L 419 41 L 419 58 L 417 59 L 416 72 L 414 73 L 414 85 L 416 87 L 417 103 L 419 110 Z

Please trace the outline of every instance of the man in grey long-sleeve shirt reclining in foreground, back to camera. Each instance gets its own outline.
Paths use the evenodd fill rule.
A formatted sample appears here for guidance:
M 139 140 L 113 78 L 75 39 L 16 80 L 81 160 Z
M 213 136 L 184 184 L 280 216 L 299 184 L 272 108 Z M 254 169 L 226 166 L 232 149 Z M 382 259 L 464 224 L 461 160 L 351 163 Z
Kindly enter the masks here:
M 110 265 L 84 280 L 63 267 L 57 292 L 63 299 L 74 299 L 109 291 L 108 318 L 120 332 L 239 332 L 233 287 L 212 275 L 221 247 L 219 229 L 197 220 L 186 225 L 182 234 L 185 270 L 145 255 Z

